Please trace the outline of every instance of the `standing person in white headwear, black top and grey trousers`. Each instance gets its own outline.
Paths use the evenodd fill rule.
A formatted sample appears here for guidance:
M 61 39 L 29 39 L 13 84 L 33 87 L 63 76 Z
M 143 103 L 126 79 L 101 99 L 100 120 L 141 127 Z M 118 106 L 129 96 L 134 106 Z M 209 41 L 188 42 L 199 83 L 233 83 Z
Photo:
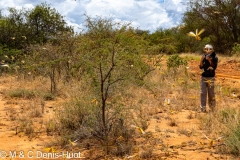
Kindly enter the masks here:
M 202 56 L 199 65 L 200 69 L 203 70 L 200 82 L 200 109 L 201 112 L 206 112 L 207 95 L 210 110 L 214 111 L 216 106 L 214 80 L 215 70 L 218 65 L 218 57 L 216 56 L 213 47 L 210 44 L 205 45 L 203 51 L 204 55 Z

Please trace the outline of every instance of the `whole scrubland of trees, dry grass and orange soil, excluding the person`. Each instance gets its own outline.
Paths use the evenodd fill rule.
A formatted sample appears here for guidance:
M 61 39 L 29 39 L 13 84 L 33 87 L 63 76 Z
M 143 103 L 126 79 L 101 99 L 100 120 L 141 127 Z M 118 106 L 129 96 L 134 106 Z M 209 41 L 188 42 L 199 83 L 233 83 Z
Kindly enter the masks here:
M 0 14 L 0 151 L 80 152 L 85 159 L 240 156 L 236 1 L 193 1 L 183 24 L 154 33 L 87 15 L 74 33 L 46 3 L 9 13 Z M 188 36 L 200 28 L 201 35 Z M 198 65 L 207 43 L 219 56 L 217 107 L 199 113 Z

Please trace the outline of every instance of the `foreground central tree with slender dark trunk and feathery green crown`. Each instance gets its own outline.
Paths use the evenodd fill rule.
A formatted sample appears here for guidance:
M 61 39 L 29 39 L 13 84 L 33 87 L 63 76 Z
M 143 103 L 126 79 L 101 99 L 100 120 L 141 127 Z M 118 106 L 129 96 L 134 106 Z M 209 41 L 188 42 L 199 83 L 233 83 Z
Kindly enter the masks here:
M 108 145 L 114 124 L 124 114 L 113 99 L 131 82 L 141 84 L 150 67 L 141 59 L 144 40 L 130 24 L 86 16 L 87 31 L 79 38 L 78 68 L 92 82 L 99 102 L 93 135 Z M 127 111 L 124 111 L 127 112 Z M 98 115 L 100 115 L 98 117 Z

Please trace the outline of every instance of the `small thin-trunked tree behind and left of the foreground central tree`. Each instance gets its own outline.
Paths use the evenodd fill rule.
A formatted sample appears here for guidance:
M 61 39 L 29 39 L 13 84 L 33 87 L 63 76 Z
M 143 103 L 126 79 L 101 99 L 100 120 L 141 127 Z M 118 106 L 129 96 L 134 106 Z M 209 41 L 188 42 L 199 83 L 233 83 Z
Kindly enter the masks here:
M 71 61 L 76 49 L 76 38 L 72 32 L 65 32 L 56 36 L 45 45 L 32 45 L 27 63 L 24 68 L 31 74 L 47 76 L 50 78 L 50 91 L 57 91 L 57 83 L 60 80 L 69 80 Z M 26 71 L 26 70 L 25 70 Z

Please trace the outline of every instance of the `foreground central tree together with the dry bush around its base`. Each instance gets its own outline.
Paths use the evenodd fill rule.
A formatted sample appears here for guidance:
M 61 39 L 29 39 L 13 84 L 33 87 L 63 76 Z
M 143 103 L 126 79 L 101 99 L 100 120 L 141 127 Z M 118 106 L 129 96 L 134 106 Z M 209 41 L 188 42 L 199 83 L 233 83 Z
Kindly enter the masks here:
M 119 136 L 129 137 L 126 118 L 132 118 L 132 113 L 126 112 L 121 97 L 127 86 L 144 84 L 151 71 L 141 56 L 147 51 L 147 43 L 130 24 L 111 19 L 86 16 L 86 28 L 76 36 L 78 47 L 67 59 L 85 94 L 72 101 L 59 114 L 59 120 L 64 139 L 94 136 L 108 154 Z

